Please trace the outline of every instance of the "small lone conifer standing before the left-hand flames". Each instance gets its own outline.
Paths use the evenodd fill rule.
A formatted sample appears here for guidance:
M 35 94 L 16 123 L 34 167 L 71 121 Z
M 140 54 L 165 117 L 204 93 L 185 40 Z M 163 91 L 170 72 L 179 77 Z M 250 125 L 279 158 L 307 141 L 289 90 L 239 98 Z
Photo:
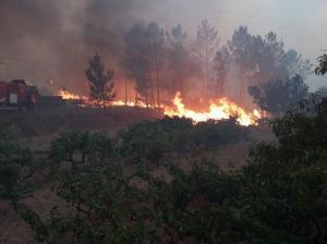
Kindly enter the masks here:
M 105 108 L 106 102 L 112 101 L 116 97 L 112 83 L 113 71 L 106 71 L 100 57 L 96 53 L 88 60 L 85 74 L 88 80 L 90 98 L 97 100 L 99 107 Z

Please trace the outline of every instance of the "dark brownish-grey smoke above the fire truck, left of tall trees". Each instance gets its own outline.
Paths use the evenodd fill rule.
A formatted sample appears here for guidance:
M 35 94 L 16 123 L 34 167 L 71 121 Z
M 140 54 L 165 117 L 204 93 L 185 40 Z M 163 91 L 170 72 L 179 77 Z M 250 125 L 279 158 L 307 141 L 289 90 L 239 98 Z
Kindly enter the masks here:
M 100 52 L 117 70 L 124 29 L 149 10 L 142 0 L 1 0 L 1 78 L 85 91 L 89 56 Z

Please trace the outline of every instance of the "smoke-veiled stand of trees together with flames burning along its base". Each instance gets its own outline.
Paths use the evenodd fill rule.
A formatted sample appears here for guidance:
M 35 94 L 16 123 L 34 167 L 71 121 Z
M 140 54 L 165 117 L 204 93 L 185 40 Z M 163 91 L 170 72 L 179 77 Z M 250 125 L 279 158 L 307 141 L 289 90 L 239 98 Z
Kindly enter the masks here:
M 237 118 L 245 126 L 282 114 L 307 95 L 311 63 L 284 50 L 275 33 L 254 36 L 241 26 L 219 47 L 218 32 L 205 20 L 194 41 L 186 37 L 181 25 L 168 32 L 157 23 L 135 24 L 123 35 L 119 73 L 105 70 L 96 53 L 86 70 L 89 97 L 68 89 L 58 95 L 81 106 L 159 108 L 195 122 Z

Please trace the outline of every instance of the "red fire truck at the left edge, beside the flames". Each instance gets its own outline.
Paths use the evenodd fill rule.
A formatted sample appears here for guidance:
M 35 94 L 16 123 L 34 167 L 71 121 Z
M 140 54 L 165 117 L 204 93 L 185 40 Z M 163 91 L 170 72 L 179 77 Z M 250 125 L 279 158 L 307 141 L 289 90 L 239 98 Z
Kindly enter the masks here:
M 38 91 L 24 80 L 0 81 L 0 110 L 34 110 Z

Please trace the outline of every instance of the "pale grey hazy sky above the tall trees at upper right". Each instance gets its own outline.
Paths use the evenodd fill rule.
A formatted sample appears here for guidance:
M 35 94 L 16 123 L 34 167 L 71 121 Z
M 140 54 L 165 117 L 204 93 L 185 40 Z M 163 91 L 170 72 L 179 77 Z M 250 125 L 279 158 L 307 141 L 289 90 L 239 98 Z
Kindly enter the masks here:
M 327 0 L 162 0 L 158 21 L 197 27 L 207 17 L 217 26 L 222 42 L 233 28 L 246 25 L 252 34 L 276 32 L 288 48 L 315 62 L 327 49 Z M 312 77 L 311 85 L 327 85 L 327 78 Z

